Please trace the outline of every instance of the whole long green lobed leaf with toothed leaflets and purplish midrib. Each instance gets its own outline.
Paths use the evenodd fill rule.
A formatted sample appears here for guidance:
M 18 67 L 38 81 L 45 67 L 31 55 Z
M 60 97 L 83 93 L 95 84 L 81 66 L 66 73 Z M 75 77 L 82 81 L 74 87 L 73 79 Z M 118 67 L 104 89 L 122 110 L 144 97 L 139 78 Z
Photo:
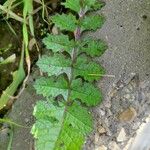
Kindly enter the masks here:
M 32 127 L 36 150 L 80 150 L 93 128 L 88 107 L 100 103 L 102 96 L 94 81 L 104 69 L 92 60 L 101 56 L 107 46 L 100 40 L 81 38 L 84 31 L 101 27 L 104 17 L 91 16 L 89 11 L 100 9 L 96 0 L 66 0 L 62 3 L 72 13 L 56 14 L 51 18 L 62 33 L 48 34 L 43 39 L 50 56 L 44 55 L 37 65 L 48 77 L 35 82 L 35 89 L 46 100 L 34 108 L 36 122 Z M 76 13 L 77 15 L 74 15 Z

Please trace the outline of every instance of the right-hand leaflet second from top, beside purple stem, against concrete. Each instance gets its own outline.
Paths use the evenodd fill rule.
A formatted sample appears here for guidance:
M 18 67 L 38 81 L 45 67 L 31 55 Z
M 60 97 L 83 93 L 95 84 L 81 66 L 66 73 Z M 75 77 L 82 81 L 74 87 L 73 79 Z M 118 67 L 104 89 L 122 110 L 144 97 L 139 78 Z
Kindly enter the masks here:
M 104 17 L 99 16 L 99 15 L 85 17 L 81 21 L 82 31 L 84 31 L 84 30 L 96 30 L 103 25 L 104 20 L 105 20 Z

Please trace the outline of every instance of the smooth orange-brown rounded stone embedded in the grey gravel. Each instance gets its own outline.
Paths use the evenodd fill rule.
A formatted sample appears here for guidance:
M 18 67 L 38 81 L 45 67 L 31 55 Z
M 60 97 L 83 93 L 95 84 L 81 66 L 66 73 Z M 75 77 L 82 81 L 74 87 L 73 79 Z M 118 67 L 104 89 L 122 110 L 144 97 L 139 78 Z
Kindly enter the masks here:
M 137 116 L 137 112 L 133 107 L 129 107 L 125 111 L 121 112 L 118 116 L 120 121 L 131 122 Z

